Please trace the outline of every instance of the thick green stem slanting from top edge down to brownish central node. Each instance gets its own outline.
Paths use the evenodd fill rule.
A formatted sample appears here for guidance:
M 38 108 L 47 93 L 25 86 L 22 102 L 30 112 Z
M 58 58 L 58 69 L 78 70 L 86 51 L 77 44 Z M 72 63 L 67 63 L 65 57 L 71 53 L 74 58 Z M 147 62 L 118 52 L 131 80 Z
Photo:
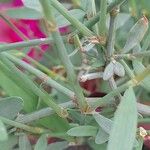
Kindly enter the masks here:
M 80 110 L 82 112 L 85 112 L 88 109 L 88 104 L 83 95 L 82 88 L 80 87 L 79 82 L 77 81 L 74 67 L 68 57 L 67 50 L 64 46 L 63 40 L 60 36 L 60 33 L 57 30 L 55 17 L 53 16 L 52 11 L 51 11 L 52 10 L 51 5 L 49 5 L 48 0 L 45 0 L 45 1 L 41 0 L 40 2 L 44 11 L 45 18 L 47 19 L 46 21 L 48 23 L 48 26 L 51 27 L 50 32 L 56 44 L 59 58 L 61 59 L 62 63 L 64 64 L 66 68 L 69 82 L 75 92 L 77 104 L 79 105 Z M 63 8 L 63 6 L 57 1 L 51 0 L 51 4 L 58 6 L 59 7 L 58 9 L 62 10 L 63 12 L 66 11 L 65 8 Z M 66 14 L 68 15 L 68 13 Z

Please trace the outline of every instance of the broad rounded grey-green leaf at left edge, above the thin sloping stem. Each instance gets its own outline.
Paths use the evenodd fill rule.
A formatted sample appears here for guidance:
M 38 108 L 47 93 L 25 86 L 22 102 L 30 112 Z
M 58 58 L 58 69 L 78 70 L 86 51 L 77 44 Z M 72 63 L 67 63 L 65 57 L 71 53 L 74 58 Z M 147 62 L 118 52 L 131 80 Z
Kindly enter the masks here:
M 7 97 L 0 99 L 0 116 L 14 119 L 23 108 L 20 97 Z

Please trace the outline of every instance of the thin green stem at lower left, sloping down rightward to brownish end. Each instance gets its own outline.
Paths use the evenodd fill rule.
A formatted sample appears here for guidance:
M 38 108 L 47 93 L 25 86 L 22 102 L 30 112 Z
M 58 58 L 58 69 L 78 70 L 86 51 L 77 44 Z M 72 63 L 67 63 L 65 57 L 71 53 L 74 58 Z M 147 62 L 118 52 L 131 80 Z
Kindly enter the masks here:
M 9 119 L 7 119 L 5 117 L 2 117 L 2 116 L 0 116 L 0 120 L 2 120 L 2 122 L 4 122 L 5 124 L 14 126 L 16 128 L 23 129 L 25 131 L 28 131 L 28 132 L 31 132 L 31 133 L 34 133 L 34 134 L 43 134 L 43 133 L 47 133 L 47 131 L 48 131 L 48 130 L 45 130 L 45 129 L 42 129 L 42 128 L 39 128 L 39 127 L 27 126 L 27 125 L 24 125 L 22 123 L 9 120 Z

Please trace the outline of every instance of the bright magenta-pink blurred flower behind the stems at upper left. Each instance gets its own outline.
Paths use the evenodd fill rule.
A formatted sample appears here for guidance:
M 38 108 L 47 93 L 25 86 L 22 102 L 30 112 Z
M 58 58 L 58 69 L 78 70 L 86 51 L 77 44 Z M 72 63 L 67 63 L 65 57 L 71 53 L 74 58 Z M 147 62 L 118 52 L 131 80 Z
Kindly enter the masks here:
M 0 9 L 5 12 L 9 8 L 22 7 L 21 0 L 12 0 L 9 3 L 1 3 Z M 25 20 L 25 19 L 12 19 L 9 20 L 29 39 L 44 38 L 46 35 L 42 32 L 39 25 L 39 20 Z M 68 32 L 68 28 L 63 27 L 60 29 L 61 33 Z M 0 19 L 0 43 L 14 43 L 22 41 L 23 39 L 14 32 L 10 26 Z M 43 52 L 48 49 L 48 45 L 41 46 L 41 52 L 37 52 L 35 48 L 31 48 L 28 55 L 34 59 L 41 59 Z

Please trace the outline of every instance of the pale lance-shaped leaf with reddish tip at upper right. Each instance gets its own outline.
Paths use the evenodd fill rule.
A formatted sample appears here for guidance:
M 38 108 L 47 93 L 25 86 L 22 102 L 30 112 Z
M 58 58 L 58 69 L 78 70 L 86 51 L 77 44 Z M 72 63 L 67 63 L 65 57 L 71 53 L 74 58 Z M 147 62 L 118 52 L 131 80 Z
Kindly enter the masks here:
M 123 53 L 129 52 L 135 45 L 141 42 L 148 29 L 148 20 L 143 16 L 129 31 L 126 44 L 122 50 Z

